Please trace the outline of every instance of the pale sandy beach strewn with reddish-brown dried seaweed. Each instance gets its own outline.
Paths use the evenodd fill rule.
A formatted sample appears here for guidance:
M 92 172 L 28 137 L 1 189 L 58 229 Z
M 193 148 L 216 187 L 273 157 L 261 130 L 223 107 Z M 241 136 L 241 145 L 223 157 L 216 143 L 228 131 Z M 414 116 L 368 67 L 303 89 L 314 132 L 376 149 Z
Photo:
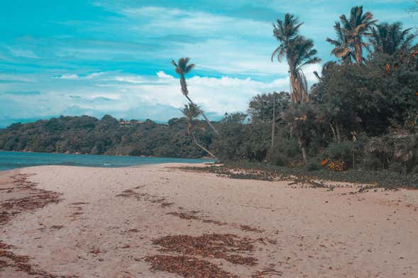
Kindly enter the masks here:
M 418 275 L 418 191 L 330 191 L 179 166 L 1 172 L 0 277 L 181 277 L 155 270 L 162 260 L 213 277 Z M 22 204 L 34 194 L 33 207 Z

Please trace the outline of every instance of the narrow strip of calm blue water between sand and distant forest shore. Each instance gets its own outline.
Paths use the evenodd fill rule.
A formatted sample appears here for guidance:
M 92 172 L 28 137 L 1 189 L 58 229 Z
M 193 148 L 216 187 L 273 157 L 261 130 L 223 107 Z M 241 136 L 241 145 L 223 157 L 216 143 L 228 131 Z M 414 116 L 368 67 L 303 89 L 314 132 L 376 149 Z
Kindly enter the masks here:
M 38 166 L 71 165 L 87 167 L 126 167 L 159 163 L 202 163 L 214 160 L 168 158 L 168 157 L 125 157 L 113 155 L 66 155 L 61 153 L 6 152 L 0 150 L 0 171 Z

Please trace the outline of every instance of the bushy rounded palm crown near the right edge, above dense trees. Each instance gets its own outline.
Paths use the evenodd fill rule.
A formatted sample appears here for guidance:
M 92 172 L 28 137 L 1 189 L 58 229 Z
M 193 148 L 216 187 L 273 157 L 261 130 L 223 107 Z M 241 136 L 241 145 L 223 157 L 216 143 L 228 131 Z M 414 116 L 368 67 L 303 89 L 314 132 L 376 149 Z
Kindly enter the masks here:
M 376 52 L 387 55 L 409 52 L 417 35 L 410 33 L 412 28 L 402 30 L 402 23 L 381 23 L 372 28 L 370 43 Z

